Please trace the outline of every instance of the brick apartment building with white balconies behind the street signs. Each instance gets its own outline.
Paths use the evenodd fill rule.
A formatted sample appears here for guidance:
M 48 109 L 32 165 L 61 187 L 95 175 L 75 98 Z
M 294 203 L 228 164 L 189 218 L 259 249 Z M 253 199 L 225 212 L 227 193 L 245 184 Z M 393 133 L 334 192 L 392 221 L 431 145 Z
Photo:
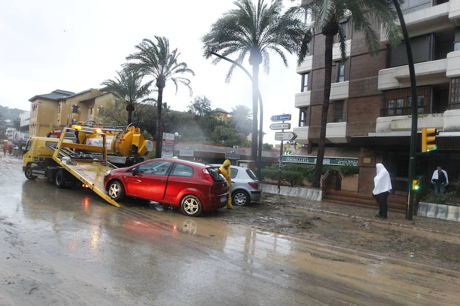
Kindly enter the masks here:
M 406 0 L 402 9 L 416 63 L 419 137 L 423 127 L 436 127 L 440 132 L 438 150 L 418 157 L 417 174 L 430 177 L 440 164 L 449 179 L 456 181 L 460 174 L 460 0 Z M 310 20 L 307 16 L 306 22 Z M 334 44 L 325 156 L 331 157 L 328 162 L 358 164 L 358 192 L 366 194 L 373 189 L 375 164 L 383 162 L 395 192 L 402 193 L 407 188 L 411 126 L 404 43 L 389 48 L 385 33 L 379 31 L 380 52 L 370 56 L 363 33 L 355 32 L 347 19 L 341 27 L 347 33 L 347 58 L 341 62 L 339 45 Z M 324 35 L 314 36 L 309 56 L 296 69 L 301 88 L 295 94 L 299 120 L 294 132 L 296 141 L 304 146 L 293 155 L 316 156 L 324 44 Z

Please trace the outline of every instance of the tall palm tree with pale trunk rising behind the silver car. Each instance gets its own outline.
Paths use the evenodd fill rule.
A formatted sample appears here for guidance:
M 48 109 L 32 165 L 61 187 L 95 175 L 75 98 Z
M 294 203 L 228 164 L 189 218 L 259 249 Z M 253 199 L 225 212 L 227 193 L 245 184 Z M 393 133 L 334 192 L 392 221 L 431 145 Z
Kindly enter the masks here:
M 297 41 L 303 37 L 303 23 L 297 18 L 284 18 L 282 16 L 282 0 L 273 0 L 268 6 L 264 0 L 258 0 L 257 5 L 251 0 L 237 0 L 237 8 L 229 10 L 217 19 L 211 31 L 202 37 L 204 43 L 219 43 L 214 51 L 221 52 L 226 57 L 238 54 L 235 60 L 243 63 L 249 55 L 249 65 L 252 66 L 252 144 L 251 159 L 257 156 L 257 116 L 259 95 L 259 66 L 263 63 L 265 72 L 270 69 L 269 51 L 278 54 L 287 67 L 287 59 L 283 52 L 285 49 L 292 54 L 297 51 Z M 282 22 L 284 21 L 284 22 Z M 209 58 L 211 54 L 205 53 Z M 217 63 L 221 58 L 216 58 Z M 226 81 L 232 77 L 235 68 L 232 64 L 228 70 Z

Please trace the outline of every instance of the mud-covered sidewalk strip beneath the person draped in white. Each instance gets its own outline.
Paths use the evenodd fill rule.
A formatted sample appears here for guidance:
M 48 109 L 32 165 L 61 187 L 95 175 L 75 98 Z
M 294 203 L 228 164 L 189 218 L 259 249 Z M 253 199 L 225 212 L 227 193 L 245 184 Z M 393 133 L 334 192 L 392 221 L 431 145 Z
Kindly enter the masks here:
M 372 221 L 392 226 L 402 226 L 423 230 L 433 233 L 442 233 L 460 237 L 460 224 L 455 221 L 442 220 L 436 218 L 426 218 L 413 215 L 412 220 L 406 220 L 404 213 L 388 212 L 388 219 L 382 220 L 376 218 L 378 213 L 377 203 L 375 209 L 356 207 L 353 205 L 334 204 L 331 202 L 321 202 L 306 200 L 291 196 L 278 196 L 273 194 L 264 194 L 263 201 L 277 205 L 283 203 L 285 206 L 296 209 L 305 209 L 317 213 L 326 213 L 330 215 L 341 216 L 344 218 L 360 219 L 362 221 Z

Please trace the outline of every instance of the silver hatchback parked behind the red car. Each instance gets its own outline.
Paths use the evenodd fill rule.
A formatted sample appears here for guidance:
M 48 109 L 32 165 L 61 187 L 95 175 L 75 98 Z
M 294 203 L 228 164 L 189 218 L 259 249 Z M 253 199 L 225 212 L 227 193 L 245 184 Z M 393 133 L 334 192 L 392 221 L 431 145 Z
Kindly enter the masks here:
M 222 165 L 213 164 L 212 166 L 220 167 Z M 260 200 L 262 189 L 256 174 L 251 169 L 230 166 L 232 169 L 232 203 L 234 205 L 246 205 L 250 201 Z

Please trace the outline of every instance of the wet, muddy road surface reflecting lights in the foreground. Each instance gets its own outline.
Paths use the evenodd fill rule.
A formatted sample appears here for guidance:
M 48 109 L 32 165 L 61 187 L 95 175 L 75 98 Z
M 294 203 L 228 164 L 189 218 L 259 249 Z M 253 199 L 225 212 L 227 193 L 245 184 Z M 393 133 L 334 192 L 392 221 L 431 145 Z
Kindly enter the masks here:
M 0 305 L 454 305 L 458 273 L 28 181 L 0 160 Z M 8 174 L 6 174 L 8 173 Z M 456 269 L 458 270 L 458 269 Z

